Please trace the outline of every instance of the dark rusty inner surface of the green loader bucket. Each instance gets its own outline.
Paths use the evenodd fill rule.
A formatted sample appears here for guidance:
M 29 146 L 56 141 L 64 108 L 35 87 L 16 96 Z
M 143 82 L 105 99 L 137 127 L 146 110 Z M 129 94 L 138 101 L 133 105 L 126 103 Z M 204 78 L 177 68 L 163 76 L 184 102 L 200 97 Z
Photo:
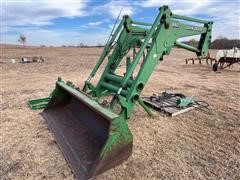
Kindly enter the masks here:
M 65 106 L 50 106 L 42 115 L 77 179 L 87 179 L 107 140 L 109 122 L 75 98 Z

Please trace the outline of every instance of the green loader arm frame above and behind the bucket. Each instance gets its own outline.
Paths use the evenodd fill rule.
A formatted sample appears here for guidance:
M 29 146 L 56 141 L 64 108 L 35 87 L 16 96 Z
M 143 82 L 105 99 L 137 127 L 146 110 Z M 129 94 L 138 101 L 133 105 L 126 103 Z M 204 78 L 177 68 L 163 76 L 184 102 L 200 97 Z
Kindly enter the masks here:
M 91 95 L 96 96 L 97 99 L 105 96 L 106 91 L 112 93 L 110 109 L 113 110 L 115 104 L 120 104 L 126 118 L 130 117 L 134 104 L 140 100 L 140 93 L 155 66 L 163 60 L 164 55 L 170 54 L 174 46 L 195 52 L 198 57 L 205 57 L 208 53 L 213 22 L 173 14 L 167 6 L 159 10 L 153 24 L 136 22 L 129 16 L 124 16 L 118 27 L 119 35 L 116 35 L 118 38 L 115 40 L 115 48 L 112 54 L 110 52 L 108 54 L 108 63 L 99 82 L 96 87 L 88 80 L 85 82 L 88 86 L 88 91 L 85 91 L 91 92 Z M 192 25 L 193 23 L 197 25 Z M 180 38 L 194 35 L 200 35 L 197 47 L 177 41 Z M 139 44 L 139 50 L 124 75 L 117 75 L 116 69 L 124 61 L 124 56 L 131 48 Z M 145 57 L 143 57 L 144 54 Z M 141 68 L 132 78 L 140 61 Z M 102 63 L 102 59 L 99 62 Z M 94 72 L 96 67 L 99 67 L 99 62 Z

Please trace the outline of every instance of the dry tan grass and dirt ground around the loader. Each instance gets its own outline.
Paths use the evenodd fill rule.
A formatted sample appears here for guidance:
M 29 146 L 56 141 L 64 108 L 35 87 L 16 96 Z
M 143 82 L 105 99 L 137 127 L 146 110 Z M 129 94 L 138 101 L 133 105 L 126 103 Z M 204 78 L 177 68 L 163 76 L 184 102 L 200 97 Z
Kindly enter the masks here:
M 74 179 L 41 111 L 26 103 L 48 96 L 58 76 L 82 86 L 101 51 L 2 47 L 0 179 Z M 44 63 L 10 61 L 40 55 Z M 240 179 L 240 67 L 214 73 L 205 63 L 186 65 L 184 59 L 192 56 L 173 49 L 142 95 L 174 90 L 207 101 L 209 113 L 193 110 L 170 118 L 154 111 L 149 118 L 137 105 L 128 122 L 133 155 L 96 179 Z

